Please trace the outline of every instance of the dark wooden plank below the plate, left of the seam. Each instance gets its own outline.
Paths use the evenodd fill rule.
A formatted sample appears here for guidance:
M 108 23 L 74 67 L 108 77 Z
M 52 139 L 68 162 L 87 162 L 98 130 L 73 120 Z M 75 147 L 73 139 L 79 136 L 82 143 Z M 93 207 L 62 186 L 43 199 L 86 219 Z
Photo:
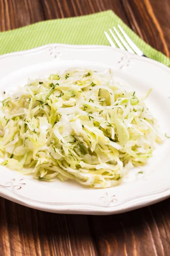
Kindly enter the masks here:
M 41 212 L 0 198 L 0 256 L 8 255 L 98 254 L 86 215 Z

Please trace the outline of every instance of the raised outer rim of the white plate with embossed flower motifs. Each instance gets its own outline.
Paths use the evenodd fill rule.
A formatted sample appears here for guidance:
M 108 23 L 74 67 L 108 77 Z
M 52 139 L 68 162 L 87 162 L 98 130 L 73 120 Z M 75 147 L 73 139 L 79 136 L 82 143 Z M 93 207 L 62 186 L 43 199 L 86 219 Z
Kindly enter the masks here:
M 153 65 L 156 65 L 157 67 L 161 68 L 162 70 L 168 72 L 170 74 L 170 68 L 165 66 L 164 64 L 161 64 L 157 61 L 140 57 L 138 55 L 133 55 L 129 52 L 122 51 L 121 49 L 113 48 L 110 46 L 101 46 L 101 45 L 68 45 L 68 44 L 46 44 L 40 47 L 36 47 L 33 49 L 28 49 L 20 52 L 12 52 L 12 53 L 7 53 L 4 55 L 0 55 L 0 62 L 1 60 L 4 60 L 8 57 L 16 57 L 16 56 L 27 56 L 27 55 L 34 55 L 36 52 L 41 52 L 42 50 L 48 49 L 50 51 L 50 55 L 54 56 L 54 59 L 58 58 L 60 56 L 61 51 L 58 50 L 58 48 L 61 49 L 98 49 L 98 50 L 112 50 L 113 52 L 119 52 L 122 54 L 122 59 L 118 62 L 120 63 L 125 60 L 127 63 L 123 66 L 119 66 L 119 69 L 122 69 L 122 67 L 128 67 L 130 60 L 140 60 L 140 61 L 145 61 L 146 63 L 152 63 Z M 54 50 L 54 51 L 53 51 Z M 56 53 L 55 50 L 58 52 Z M 127 59 L 124 59 L 127 56 Z M 11 183 L 12 185 L 9 185 Z M 6 185 L 7 184 L 7 185 Z M 8 186 L 9 185 L 9 186 Z M 23 185 L 25 185 L 23 183 Z M 11 188 L 14 190 L 13 192 L 9 190 Z M 155 192 L 150 192 L 150 193 L 145 193 L 143 195 L 139 196 L 134 196 L 129 199 L 126 199 L 125 201 L 118 202 L 116 204 L 94 204 L 94 203 L 52 203 L 52 202 L 42 202 L 42 201 L 37 201 L 37 200 L 32 200 L 30 198 L 26 198 L 25 196 L 16 193 L 16 190 L 20 190 L 21 187 L 20 185 L 14 185 L 11 181 L 7 181 L 5 184 L 1 184 L 0 182 L 0 196 L 7 198 L 11 201 L 17 202 L 19 204 L 23 204 L 25 206 L 35 208 L 35 209 L 41 209 L 45 211 L 50 211 L 50 212 L 67 212 L 67 213 L 85 213 L 85 214 L 114 214 L 114 213 L 119 213 L 119 212 L 125 212 L 129 211 L 132 209 L 136 209 L 139 207 L 144 207 L 149 204 L 153 204 L 155 202 L 161 201 L 167 197 L 170 196 L 170 186 L 168 186 L 165 189 L 161 189 L 159 191 Z M 114 195 L 108 195 L 107 190 L 104 190 L 104 200 L 106 197 L 106 201 L 111 200 L 113 203 L 117 199 L 114 198 Z M 107 197 L 110 197 L 107 199 Z M 136 199 L 140 199 L 139 202 L 136 202 Z M 142 201 L 143 200 L 143 201 Z M 128 204 L 129 205 L 128 205 Z

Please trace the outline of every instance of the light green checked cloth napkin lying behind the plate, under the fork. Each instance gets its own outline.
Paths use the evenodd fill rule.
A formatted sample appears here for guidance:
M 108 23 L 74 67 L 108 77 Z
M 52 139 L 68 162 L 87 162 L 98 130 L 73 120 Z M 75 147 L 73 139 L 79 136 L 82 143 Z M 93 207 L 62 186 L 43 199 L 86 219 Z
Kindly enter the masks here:
M 111 10 L 81 17 L 48 20 L 0 33 L 0 55 L 45 44 L 109 45 L 104 31 L 120 24 L 133 42 L 147 55 L 170 67 L 170 59 L 140 39 Z

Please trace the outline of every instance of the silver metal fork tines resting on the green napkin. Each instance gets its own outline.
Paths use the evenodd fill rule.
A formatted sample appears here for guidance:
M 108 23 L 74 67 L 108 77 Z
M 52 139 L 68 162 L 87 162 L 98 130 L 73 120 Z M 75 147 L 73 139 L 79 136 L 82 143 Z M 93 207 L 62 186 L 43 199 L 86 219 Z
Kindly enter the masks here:
M 124 36 L 124 38 L 126 39 L 126 41 L 125 41 L 125 39 L 122 37 L 122 35 L 119 33 L 119 31 L 116 29 L 115 26 L 113 27 L 113 29 L 119 39 L 116 37 L 116 35 L 113 33 L 113 31 L 111 29 L 109 29 L 109 32 L 111 33 L 117 46 L 122 50 L 127 49 L 128 52 L 136 53 L 139 56 L 147 57 L 146 55 L 144 55 L 144 53 L 141 51 L 141 49 L 139 49 L 139 47 L 137 47 L 137 45 L 135 43 L 133 43 L 133 41 L 125 33 L 125 31 L 122 29 L 122 27 L 120 25 L 117 25 L 117 26 L 118 26 L 120 32 L 122 33 L 122 35 Z M 108 33 L 106 31 L 105 31 L 105 36 L 107 37 L 107 39 L 112 47 L 117 47 L 116 44 L 113 42 L 113 40 L 111 39 L 111 37 L 108 35 Z M 119 40 L 122 42 L 122 44 Z

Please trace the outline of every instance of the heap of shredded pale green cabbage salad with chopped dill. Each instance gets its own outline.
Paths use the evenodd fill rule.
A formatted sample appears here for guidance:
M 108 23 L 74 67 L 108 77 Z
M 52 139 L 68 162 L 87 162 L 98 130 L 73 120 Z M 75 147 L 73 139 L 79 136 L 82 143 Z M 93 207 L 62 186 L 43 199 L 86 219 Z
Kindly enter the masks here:
M 115 186 L 161 143 L 156 119 L 113 73 L 70 68 L 1 101 L 1 165 L 39 180 Z

